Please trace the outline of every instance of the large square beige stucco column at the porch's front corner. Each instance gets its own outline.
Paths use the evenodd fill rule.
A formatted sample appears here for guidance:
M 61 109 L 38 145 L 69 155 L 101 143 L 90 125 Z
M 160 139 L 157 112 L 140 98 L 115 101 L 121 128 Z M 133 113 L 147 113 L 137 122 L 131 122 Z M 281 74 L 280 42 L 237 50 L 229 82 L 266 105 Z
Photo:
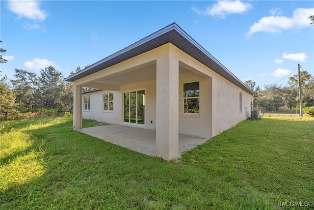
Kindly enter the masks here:
M 156 155 L 166 160 L 179 154 L 179 60 L 168 51 L 157 59 Z

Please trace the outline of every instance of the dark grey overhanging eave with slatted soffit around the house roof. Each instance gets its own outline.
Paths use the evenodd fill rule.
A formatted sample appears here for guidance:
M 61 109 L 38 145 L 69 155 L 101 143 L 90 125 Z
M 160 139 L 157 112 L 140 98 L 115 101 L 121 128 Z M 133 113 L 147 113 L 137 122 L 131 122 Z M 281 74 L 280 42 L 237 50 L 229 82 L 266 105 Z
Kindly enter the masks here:
M 166 43 L 171 43 L 178 47 L 180 50 L 191 56 L 192 58 L 203 63 L 217 74 L 221 75 L 225 79 L 229 80 L 237 87 L 245 90 L 251 95 L 255 93 L 244 85 L 231 71 L 229 71 L 224 65 L 216 60 L 209 54 L 200 44 L 198 44 L 191 36 L 189 36 L 184 30 L 182 30 L 176 23 L 172 23 L 169 26 L 158 30 L 155 33 L 131 44 L 130 46 L 100 60 L 81 71 L 65 78 L 66 82 L 74 82 L 80 78 L 103 70 L 109 66 L 115 65 L 124 60 L 131 59 L 142 53 L 153 50 Z

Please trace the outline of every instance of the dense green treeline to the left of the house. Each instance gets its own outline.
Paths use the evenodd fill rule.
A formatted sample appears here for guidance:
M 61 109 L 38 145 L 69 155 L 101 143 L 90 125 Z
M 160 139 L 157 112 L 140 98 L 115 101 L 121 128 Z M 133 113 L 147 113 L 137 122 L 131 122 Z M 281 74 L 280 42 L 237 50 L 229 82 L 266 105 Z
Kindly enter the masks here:
M 1 119 L 14 119 L 19 113 L 26 112 L 72 111 L 73 83 L 65 83 L 62 72 L 52 65 L 42 69 L 39 76 L 22 69 L 14 71 L 14 79 L 7 76 L 0 79 Z

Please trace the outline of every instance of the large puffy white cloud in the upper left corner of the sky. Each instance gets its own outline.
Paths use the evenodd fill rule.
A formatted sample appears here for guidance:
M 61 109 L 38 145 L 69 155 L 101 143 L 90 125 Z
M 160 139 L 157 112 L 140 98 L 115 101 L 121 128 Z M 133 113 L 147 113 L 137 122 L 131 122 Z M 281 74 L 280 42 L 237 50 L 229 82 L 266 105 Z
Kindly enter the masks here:
M 17 14 L 18 19 L 25 17 L 34 21 L 44 21 L 48 16 L 46 12 L 41 10 L 37 0 L 9 0 L 8 8 Z

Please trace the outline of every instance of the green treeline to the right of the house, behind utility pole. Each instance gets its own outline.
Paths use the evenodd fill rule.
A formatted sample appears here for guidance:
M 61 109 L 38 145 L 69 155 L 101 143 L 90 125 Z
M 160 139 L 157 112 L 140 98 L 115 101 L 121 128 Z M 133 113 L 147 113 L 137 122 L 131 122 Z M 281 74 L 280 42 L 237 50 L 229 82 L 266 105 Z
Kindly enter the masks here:
M 244 82 L 258 97 L 254 99 L 254 108 L 263 113 L 296 113 L 300 109 L 298 75 L 288 78 L 288 84 L 268 85 L 263 90 L 256 83 L 247 80 Z M 302 91 L 302 103 L 305 111 L 313 110 L 314 113 L 314 77 L 307 71 L 300 71 L 300 86 Z M 310 107 L 310 108 L 307 108 Z M 306 109 L 307 108 L 307 109 Z M 306 113 L 309 114 L 309 113 Z

